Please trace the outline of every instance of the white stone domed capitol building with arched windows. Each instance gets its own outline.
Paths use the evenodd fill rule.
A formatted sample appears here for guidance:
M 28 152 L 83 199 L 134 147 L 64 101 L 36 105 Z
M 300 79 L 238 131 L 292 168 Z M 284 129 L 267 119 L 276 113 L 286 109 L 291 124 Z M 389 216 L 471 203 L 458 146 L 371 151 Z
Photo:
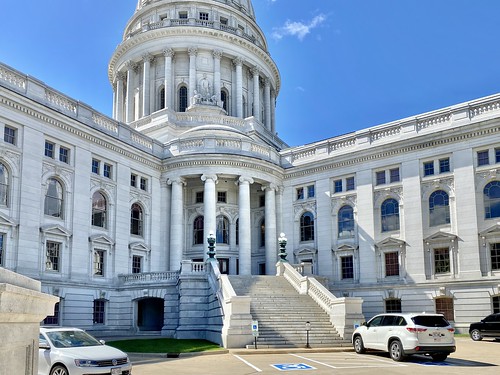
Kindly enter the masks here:
M 0 63 L 0 266 L 59 297 L 43 324 L 242 345 L 236 275 L 288 274 L 353 314 L 347 339 L 382 312 L 500 312 L 500 95 L 290 147 L 257 21 L 138 0 L 112 117 Z

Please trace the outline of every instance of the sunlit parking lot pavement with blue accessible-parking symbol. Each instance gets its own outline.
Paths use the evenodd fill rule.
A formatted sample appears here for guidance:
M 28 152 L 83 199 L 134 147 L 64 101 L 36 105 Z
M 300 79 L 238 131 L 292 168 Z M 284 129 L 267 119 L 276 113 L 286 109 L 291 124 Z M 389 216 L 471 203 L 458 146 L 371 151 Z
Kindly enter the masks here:
M 358 355 L 347 348 L 338 350 L 230 350 L 223 354 L 190 355 L 179 358 L 148 357 L 131 354 L 134 375 L 203 374 L 248 375 L 293 373 L 315 374 L 467 374 L 500 373 L 500 342 L 456 340 L 457 351 L 446 361 L 432 362 L 426 357 L 410 357 L 394 362 L 387 354 Z

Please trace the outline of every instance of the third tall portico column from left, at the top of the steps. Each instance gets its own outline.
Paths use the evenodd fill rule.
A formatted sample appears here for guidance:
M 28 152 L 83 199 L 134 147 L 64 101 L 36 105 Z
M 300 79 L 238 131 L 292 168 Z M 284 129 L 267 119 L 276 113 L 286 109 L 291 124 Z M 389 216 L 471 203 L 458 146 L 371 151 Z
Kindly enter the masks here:
M 250 220 L 250 184 L 253 184 L 253 179 L 242 176 L 239 178 L 238 182 L 240 275 L 251 275 L 252 230 Z

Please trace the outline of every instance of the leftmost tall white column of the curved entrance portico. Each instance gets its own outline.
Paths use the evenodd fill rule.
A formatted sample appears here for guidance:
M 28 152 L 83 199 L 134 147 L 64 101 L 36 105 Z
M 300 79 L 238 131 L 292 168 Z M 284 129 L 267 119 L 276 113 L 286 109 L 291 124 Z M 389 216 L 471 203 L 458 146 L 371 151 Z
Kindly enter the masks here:
M 181 268 L 184 249 L 184 186 L 186 181 L 179 177 L 168 180 L 172 185 L 172 204 L 170 210 L 170 270 Z

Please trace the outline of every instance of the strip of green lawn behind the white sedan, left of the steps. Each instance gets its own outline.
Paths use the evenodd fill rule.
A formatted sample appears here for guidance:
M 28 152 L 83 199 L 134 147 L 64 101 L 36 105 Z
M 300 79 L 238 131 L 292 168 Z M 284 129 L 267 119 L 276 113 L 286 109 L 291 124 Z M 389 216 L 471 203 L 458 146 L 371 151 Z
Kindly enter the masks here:
M 194 353 L 223 349 L 206 340 L 168 338 L 107 341 L 106 344 L 129 353 Z

